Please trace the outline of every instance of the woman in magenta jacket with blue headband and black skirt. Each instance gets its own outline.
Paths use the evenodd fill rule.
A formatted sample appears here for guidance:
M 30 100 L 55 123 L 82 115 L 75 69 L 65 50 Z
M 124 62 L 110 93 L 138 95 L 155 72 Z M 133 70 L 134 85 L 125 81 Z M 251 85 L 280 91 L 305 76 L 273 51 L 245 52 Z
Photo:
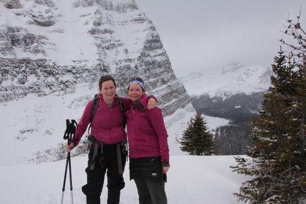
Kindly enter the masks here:
M 148 96 L 141 78 L 130 81 L 127 94 L 132 100 L 126 113 L 130 180 L 135 181 L 140 204 L 166 204 L 165 182 L 170 165 L 162 110 L 147 109 Z

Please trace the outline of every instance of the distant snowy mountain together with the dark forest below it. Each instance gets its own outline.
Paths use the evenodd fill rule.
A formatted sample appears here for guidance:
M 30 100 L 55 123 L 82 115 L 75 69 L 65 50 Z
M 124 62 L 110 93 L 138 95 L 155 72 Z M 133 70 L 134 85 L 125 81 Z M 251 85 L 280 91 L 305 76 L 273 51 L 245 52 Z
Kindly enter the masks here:
M 258 117 L 272 74 L 271 67 L 244 66 L 236 62 L 180 78 L 196 111 L 206 118 L 229 121 L 213 132 L 219 155 L 244 155 L 246 146 L 252 146 L 249 122 L 251 117 Z

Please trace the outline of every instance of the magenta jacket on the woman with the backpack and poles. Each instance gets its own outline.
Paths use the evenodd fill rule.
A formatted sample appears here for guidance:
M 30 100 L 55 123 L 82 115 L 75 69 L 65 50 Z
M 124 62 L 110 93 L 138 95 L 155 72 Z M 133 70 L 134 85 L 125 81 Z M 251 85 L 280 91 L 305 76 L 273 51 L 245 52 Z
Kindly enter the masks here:
M 115 144 L 124 141 L 126 139 L 126 133 L 122 126 L 121 110 L 117 97 L 114 97 L 114 103 L 111 108 L 109 108 L 104 102 L 102 95 L 98 95 L 97 97 L 100 99 L 91 124 L 91 135 L 93 135 L 97 140 L 103 141 L 107 144 Z M 126 112 L 131 107 L 130 98 L 121 98 L 123 101 L 124 112 Z M 75 136 L 72 139 L 74 146 L 79 144 L 82 136 L 87 130 L 88 124 L 90 123 L 92 103 L 93 100 L 88 102 L 82 118 L 78 123 Z

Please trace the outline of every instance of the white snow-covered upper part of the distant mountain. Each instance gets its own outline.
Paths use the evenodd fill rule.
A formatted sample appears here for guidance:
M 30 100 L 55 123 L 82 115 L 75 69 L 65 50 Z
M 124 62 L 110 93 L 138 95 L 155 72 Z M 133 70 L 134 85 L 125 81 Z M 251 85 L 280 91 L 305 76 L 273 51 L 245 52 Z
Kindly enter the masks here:
M 267 91 L 272 74 L 271 67 L 244 66 L 234 62 L 223 67 L 189 73 L 180 79 L 191 97 L 226 97 L 237 93 Z

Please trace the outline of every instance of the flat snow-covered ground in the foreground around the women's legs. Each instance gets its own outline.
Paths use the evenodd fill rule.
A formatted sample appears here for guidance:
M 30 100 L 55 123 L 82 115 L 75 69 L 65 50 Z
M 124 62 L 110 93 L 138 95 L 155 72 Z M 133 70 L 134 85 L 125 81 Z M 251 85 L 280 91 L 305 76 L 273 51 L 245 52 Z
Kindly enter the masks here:
M 66 160 L 0 167 L 0 203 L 60 203 L 65 165 Z M 86 184 L 87 155 L 71 158 L 71 165 L 73 203 L 84 204 L 86 197 L 81 188 Z M 232 172 L 231 165 L 236 165 L 234 156 L 170 156 L 165 186 L 168 203 L 243 203 L 233 193 L 238 192 L 241 183 L 249 177 Z M 138 203 L 135 183 L 129 179 L 129 163 L 126 164 L 124 180 L 120 204 Z M 69 173 L 65 187 L 63 203 L 71 203 Z M 106 203 L 106 200 L 105 186 L 101 203 Z

